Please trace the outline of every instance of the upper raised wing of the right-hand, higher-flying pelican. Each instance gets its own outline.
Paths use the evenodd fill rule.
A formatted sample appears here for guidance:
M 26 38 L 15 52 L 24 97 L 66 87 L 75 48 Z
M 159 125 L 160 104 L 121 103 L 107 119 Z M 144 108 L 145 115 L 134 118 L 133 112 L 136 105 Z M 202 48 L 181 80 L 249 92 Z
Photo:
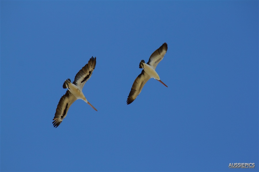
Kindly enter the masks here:
M 151 65 L 154 69 L 156 69 L 157 64 L 161 60 L 163 60 L 166 52 L 167 52 L 167 43 L 163 43 L 161 47 L 159 47 L 151 54 L 147 64 Z

